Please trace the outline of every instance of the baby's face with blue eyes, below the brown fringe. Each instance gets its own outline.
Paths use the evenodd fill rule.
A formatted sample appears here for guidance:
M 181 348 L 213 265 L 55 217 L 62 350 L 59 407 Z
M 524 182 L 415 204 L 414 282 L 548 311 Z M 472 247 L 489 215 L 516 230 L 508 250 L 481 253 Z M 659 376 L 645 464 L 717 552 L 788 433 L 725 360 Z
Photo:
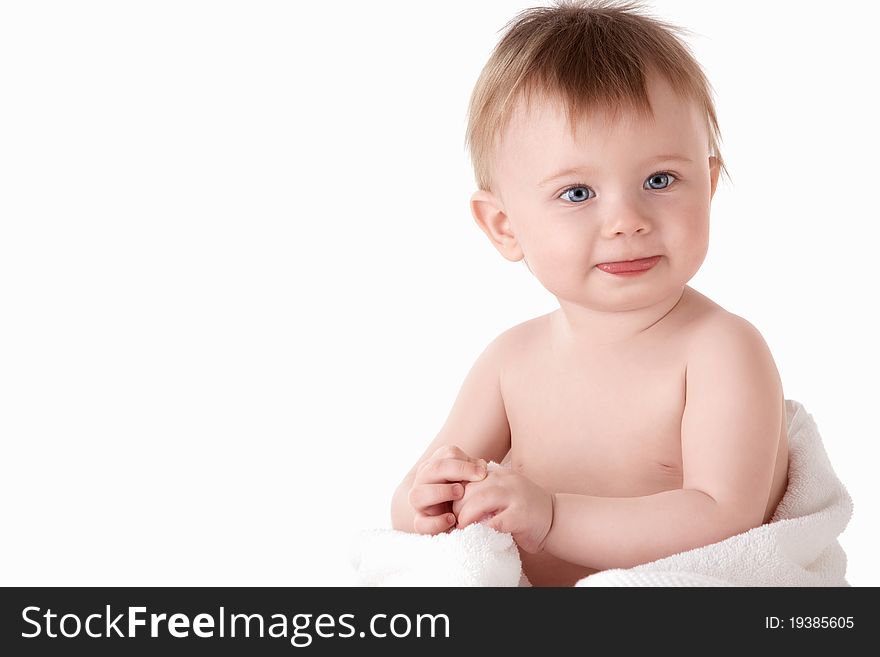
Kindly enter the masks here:
M 472 206 L 475 216 L 509 231 L 496 247 L 525 256 L 560 299 L 597 310 L 656 303 L 680 292 L 706 256 L 718 177 L 708 128 L 665 80 L 651 80 L 649 97 L 653 122 L 621 112 L 612 125 L 597 114 L 577 141 L 558 103 L 535 103 L 530 114 L 520 105 L 502 133 L 494 193 L 473 197 L 488 201 Z M 639 276 L 596 267 L 657 255 Z

